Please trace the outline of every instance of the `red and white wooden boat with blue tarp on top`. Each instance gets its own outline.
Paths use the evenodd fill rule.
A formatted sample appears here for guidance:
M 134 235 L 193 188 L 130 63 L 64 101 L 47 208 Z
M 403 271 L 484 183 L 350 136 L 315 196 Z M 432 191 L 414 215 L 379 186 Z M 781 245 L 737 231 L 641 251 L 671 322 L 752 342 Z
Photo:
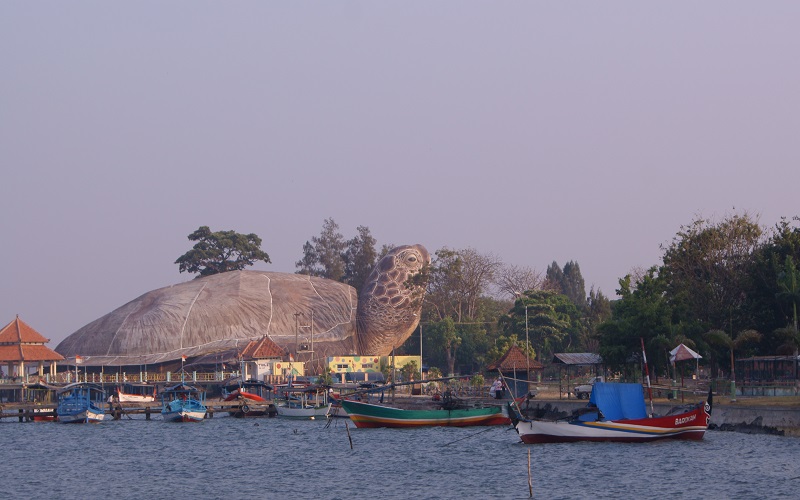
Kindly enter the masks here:
M 675 408 L 665 416 L 648 416 L 641 384 L 597 382 L 588 406 L 567 420 L 526 419 L 514 407 L 510 414 L 524 443 L 700 440 L 711 419 L 712 403 L 709 390 L 705 402 Z

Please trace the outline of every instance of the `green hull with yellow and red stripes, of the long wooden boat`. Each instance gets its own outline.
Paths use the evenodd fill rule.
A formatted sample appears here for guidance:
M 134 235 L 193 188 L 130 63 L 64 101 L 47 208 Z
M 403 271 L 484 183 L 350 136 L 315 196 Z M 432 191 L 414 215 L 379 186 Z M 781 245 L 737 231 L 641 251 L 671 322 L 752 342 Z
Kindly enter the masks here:
M 499 406 L 455 410 L 404 410 L 387 406 L 342 401 L 350 420 L 360 428 L 374 427 L 469 427 L 508 425 L 511 420 Z

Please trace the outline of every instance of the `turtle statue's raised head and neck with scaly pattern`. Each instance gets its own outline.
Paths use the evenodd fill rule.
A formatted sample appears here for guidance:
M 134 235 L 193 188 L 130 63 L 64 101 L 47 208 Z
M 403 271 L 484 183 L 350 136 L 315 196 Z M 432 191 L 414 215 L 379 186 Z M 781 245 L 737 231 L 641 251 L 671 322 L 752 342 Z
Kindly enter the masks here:
M 419 324 L 431 263 L 422 245 L 403 245 L 386 254 L 367 278 L 358 298 L 358 353 L 386 356 L 400 347 Z M 414 278 L 417 278 L 416 280 Z

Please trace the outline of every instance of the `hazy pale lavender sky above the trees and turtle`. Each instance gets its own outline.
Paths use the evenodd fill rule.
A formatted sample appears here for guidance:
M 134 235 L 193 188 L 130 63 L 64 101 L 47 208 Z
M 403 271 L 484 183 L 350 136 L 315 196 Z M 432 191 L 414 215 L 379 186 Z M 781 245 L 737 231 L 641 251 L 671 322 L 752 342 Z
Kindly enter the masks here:
M 51 346 L 184 282 L 199 226 L 294 272 L 383 244 L 577 262 L 800 214 L 800 2 L 0 2 L 0 323 Z

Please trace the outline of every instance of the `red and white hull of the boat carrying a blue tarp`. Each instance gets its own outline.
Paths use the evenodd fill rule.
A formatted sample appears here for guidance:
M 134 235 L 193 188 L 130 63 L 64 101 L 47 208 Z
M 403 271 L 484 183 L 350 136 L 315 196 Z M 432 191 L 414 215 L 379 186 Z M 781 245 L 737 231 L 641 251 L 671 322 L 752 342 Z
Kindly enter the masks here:
M 694 410 L 666 417 L 595 422 L 522 420 L 514 427 L 522 442 L 528 444 L 701 440 L 710 420 L 708 411 L 708 405 L 700 405 Z

